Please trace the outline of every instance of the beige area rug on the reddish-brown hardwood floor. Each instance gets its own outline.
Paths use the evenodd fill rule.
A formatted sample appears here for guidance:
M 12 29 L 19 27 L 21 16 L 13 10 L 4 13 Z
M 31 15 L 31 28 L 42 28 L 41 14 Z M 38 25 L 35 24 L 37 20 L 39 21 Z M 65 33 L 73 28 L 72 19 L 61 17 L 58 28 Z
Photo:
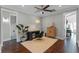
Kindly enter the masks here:
M 43 53 L 58 40 L 48 37 L 42 37 L 41 39 L 42 40 L 33 39 L 32 41 L 25 41 L 21 44 L 32 53 Z

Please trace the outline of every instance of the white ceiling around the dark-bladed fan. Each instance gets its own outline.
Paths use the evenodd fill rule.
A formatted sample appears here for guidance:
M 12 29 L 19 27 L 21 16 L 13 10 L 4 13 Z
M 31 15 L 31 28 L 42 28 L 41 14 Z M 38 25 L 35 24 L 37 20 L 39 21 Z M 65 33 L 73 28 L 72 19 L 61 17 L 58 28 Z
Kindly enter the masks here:
M 48 9 L 56 9 L 56 12 L 45 12 L 44 14 L 42 14 L 41 12 L 36 12 L 37 9 L 34 8 L 36 6 L 40 7 L 40 5 L 24 5 L 24 7 L 22 5 L 2 5 L 1 7 L 40 17 L 44 17 L 47 15 L 65 11 L 67 9 L 73 9 L 78 7 L 78 5 L 62 5 L 62 7 L 59 7 L 58 5 L 50 5 Z

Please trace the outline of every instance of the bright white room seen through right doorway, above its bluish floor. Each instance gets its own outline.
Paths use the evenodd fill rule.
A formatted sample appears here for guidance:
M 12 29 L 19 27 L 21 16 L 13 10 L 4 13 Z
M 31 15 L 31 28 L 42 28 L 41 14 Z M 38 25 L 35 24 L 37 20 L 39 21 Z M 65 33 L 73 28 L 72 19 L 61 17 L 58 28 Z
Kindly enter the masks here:
M 65 20 L 66 38 L 76 43 L 76 11 L 66 14 Z

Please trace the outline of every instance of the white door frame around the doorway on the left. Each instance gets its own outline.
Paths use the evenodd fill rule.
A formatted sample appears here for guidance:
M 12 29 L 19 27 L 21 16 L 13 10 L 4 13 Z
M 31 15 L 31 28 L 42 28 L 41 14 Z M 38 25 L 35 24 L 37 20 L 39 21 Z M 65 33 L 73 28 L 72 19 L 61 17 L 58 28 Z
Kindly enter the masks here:
M 6 9 L 6 8 L 1 8 L 1 46 L 3 46 L 3 25 L 2 25 L 2 12 L 3 11 L 6 11 L 6 12 L 8 12 L 9 13 L 9 19 L 10 19 L 10 15 L 14 15 L 15 14 L 15 16 L 16 16 L 16 25 L 18 24 L 18 18 L 17 18 L 17 12 L 16 11 L 13 11 L 13 10 L 9 10 L 9 9 Z M 10 23 L 11 24 L 11 23 Z M 10 26 L 10 39 L 11 39 L 11 25 L 9 24 L 9 26 Z M 16 37 L 18 38 L 18 36 L 17 36 L 17 31 L 16 31 Z

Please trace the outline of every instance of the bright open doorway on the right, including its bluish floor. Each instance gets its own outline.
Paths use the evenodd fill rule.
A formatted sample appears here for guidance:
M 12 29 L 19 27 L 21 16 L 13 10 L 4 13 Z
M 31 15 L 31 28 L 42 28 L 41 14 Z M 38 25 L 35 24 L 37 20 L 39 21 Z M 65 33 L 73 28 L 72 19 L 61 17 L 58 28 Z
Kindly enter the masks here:
M 76 11 L 65 14 L 65 51 L 77 52 L 76 45 Z

